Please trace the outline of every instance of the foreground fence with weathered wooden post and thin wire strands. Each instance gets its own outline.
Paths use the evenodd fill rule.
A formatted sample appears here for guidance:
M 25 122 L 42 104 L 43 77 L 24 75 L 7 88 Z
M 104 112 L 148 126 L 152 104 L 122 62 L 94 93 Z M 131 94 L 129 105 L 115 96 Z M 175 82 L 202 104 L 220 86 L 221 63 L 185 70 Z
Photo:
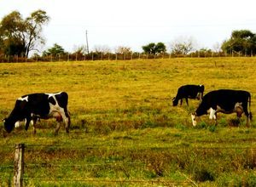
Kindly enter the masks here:
M 30 168 L 30 167 L 89 167 L 89 166 L 123 166 L 123 165 L 135 165 L 135 166 L 147 166 L 147 161 L 135 161 L 135 162 L 125 162 L 125 161 L 102 161 L 102 162 L 98 162 L 98 163 L 88 163 L 88 164 L 50 164 L 50 163 L 37 163 L 37 164 L 26 164 L 25 161 L 23 160 L 24 158 L 24 150 L 29 149 L 29 148 L 33 148 L 33 147 L 64 147 L 64 148 L 68 148 L 70 150 L 87 150 L 88 147 L 77 147 L 77 148 L 70 148 L 67 146 L 62 146 L 62 145 L 44 145 L 44 144 L 29 144 L 26 145 L 25 144 L 16 144 L 15 145 L 15 166 L 11 166 L 11 165 L 3 165 L 0 166 L 0 169 L 4 169 L 4 168 L 14 168 L 15 169 L 15 176 L 14 176 L 14 183 L 15 186 L 22 186 L 23 181 L 26 180 L 35 180 L 35 181 L 70 181 L 70 182 L 97 182 L 97 183 L 147 183 L 147 184 L 154 184 L 154 183 L 162 183 L 162 184 L 195 184 L 195 182 L 193 180 L 189 180 L 189 182 L 187 181 L 171 181 L 171 180 L 129 180 L 129 179 L 124 179 L 124 180 L 104 180 L 104 179 L 61 179 L 61 180 L 56 180 L 56 179 L 49 179 L 49 178 L 24 178 L 24 168 Z M 8 146 L 8 147 L 13 147 L 13 146 Z M 14 148 L 14 147 L 13 147 Z M 92 146 L 89 147 L 90 149 L 92 149 Z M 99 149 L 99 147 L 93 147 L 94 149 Z M 113 145 L 114 148 L 114 145 Z M 116 147 L 115 147 L 116 148 Z M 108 149 L 108 148 L 103 148 L 103 149 Z M 177 150 L 180 148 L 177 147 L 147 147 L 145 148 L 147 150 Z M 180 150 L 256 150 L 256 147 L 185 147 L 183 149 Z M 128 149 L 129 150 L 129 149 Z M 179 156 L 180 154 L 174 154 Z M 187 178 L 188 179 L 188 178 Z M 190 179 L 190 178 L 189 178 Z

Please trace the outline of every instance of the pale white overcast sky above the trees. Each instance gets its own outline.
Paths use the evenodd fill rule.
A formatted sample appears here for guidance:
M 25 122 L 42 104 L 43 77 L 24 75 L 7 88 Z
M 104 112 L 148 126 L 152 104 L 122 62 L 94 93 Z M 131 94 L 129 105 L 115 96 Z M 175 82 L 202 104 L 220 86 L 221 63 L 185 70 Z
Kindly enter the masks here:
M 0 0 L 0 20 L 17 10 L 25 19 L 43 9 L 50 20 L 44 26 L 41 51 L 61 45 L 73 52 L 119 46 L 142 52 L 149 42 L 192 40 L 196 48 L 215 49 L 234 30 L 256 33 L 255 0 Z

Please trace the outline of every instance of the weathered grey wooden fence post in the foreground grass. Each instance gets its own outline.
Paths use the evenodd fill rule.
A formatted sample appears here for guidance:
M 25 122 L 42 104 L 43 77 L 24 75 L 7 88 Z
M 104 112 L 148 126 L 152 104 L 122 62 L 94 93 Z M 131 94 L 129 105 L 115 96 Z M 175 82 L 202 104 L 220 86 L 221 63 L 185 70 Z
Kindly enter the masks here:
M 22 187 L 24 173 L 24 148 L 25 144 L 15 144 L 15 187 Z

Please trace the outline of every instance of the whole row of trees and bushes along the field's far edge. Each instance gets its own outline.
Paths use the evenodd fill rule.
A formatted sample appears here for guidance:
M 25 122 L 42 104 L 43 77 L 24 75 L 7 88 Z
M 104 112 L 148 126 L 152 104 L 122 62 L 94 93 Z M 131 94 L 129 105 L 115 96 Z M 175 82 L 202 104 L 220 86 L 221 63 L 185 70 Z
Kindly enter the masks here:
M 209 57 L 209 56 L 253 56 L 256 53 L 256 34 L 248 30 L 232 31 L 229 39 L 225 40 L 216 50 L 195 49 L 193 40 L 176 40 L 167 52 L 164 42 L 150 42 L 142 46 L 143 53 L 131 51 L 131 48 L 119 46 L 114 52 L 108 46 L 96 46 L 88 54 L 86 46 L 80 46 L 73 53 L 68 53 L 55 43 L 43 53 L 39 48 L 44 46 L 43 27 L 49 23 L 49 15 L 38 9 L 23 19 L 18 11 L 13 11 L 3 17 L 0 22 L 0 60 L 57 60 L 57 59 L 152 59 L 169 57 Z M 33 55 L 30 55 L 31 52 Z M 39 55 L 40 54 L 40 55 Z M 87 56 L 87 58 L 86 58 Z M 28 59 L 30 57 L 30 59 Z M 65 57 L 65 58 L 64 58 Z M 22 60 L 23 59 L 23 60 Z

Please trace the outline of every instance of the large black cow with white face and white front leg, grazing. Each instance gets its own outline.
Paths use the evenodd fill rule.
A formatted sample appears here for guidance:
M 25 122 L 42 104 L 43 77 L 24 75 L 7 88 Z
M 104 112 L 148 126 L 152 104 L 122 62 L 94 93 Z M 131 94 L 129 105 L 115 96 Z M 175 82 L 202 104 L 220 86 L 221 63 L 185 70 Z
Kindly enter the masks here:
M 236 112 L 238 117 L 244 112 L 247 116 L 247 126 L 250 126 L 252 120 L 252 112 L 248 111 L 251 105 L 251 94 L 243 90 L 219 89 L 207 93 L 195 113 L 191 114 L 192 123 L 195 126 L 196 116 L 202 116 L 210 113 L 209 118 L 215 119 L 217 124 L 217 113 L 231 114 Z

